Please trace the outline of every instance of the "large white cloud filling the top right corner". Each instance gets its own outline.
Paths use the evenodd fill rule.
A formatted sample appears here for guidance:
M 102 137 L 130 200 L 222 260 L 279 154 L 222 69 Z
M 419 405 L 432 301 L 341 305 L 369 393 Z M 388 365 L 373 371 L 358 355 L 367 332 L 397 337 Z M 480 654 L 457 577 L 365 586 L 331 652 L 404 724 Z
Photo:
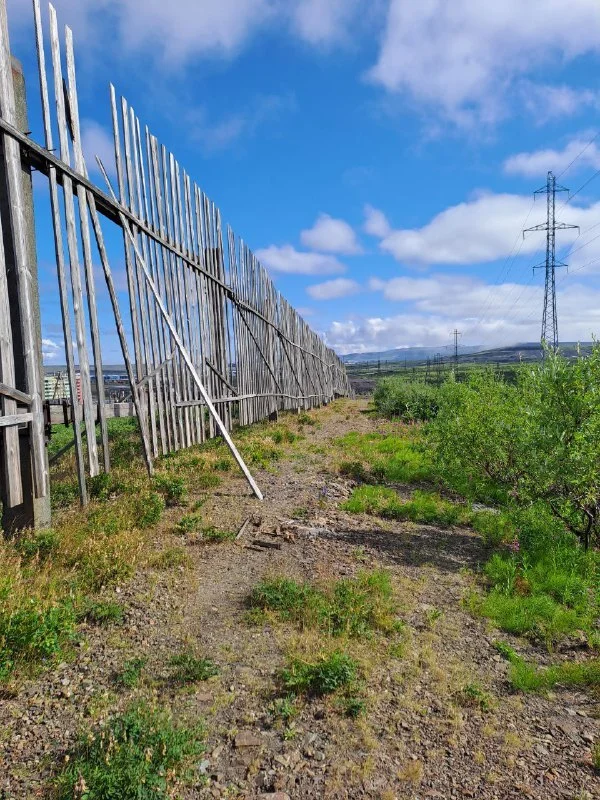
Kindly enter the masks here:
M 515 78 L 599 51 L 597 0 L 529 0 L 526 13 L 523 0 L 391 0 L 369 77 L 455 122 L 490 122 Z

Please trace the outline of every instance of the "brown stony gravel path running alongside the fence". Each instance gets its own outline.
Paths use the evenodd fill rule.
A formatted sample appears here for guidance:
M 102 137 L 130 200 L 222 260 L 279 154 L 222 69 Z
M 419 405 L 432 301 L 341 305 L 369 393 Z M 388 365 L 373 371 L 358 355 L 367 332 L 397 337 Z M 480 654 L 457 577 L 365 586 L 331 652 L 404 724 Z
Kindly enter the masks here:
M 348 401 L 315 412 L 318 425 L 305 429 L 290 457 L 256 473 L 262 504 L 232 474 L 203 512 L 232 530 L 248 520 L 238 541 L 188 537 L 189 565 L 143 570 L 108 593 L 125 604 L 124 625 L 84 628 L 72 660 L 4 692 L 0 797 L 50 797 L 49 777 L 78 732 L 137 695 L 206 722 L 206 754 L 181 792 L 186 800 L 600 797 L 591 765 L 598 698 L 514 693 L 493 647 L 509 637 L 461 602 L 486 557 L 480 539 L 465 529 L 340 511 L 352 482 L 332 470 L 330 443 L 349 430 L 375 430 L 365 408 Z M 172 528 L 167 520 L 157 531 L 157 550 L 182 544 Z M 329 582 L 373 567 L 393 575 L 406 643 L 401 655 L 385 658 L 363 643 L 365 714 L 350 719 L 313 700 L 293 720 L 277 719 L 278 670 L 298 637 L 315 634 L 250 623 L 252 587 L 265 576 Z M 219 675 L 174 687 L 166 665 L 185 644 L 213 659 Z M 537 661 L 548 657 L 512 644 Z M 135 656 L 148 659 L 141 684 L 120 689 L 115 675 Z M 472 684 L 485 691 L 483 705 L 464 702 L 461 691 Z

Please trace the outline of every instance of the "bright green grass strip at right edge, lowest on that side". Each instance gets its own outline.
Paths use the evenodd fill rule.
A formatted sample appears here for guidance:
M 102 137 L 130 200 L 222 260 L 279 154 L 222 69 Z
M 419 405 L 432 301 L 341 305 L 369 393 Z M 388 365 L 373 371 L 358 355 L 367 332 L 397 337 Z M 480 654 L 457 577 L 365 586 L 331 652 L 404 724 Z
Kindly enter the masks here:
M 496 642 L 496 649 L 510 663 L 509 680 L 521 692 L 543 692 L 556 686 L 600 686 L 600 659 L 565 661 L 549 667 L 537 667 L 504 642 Z

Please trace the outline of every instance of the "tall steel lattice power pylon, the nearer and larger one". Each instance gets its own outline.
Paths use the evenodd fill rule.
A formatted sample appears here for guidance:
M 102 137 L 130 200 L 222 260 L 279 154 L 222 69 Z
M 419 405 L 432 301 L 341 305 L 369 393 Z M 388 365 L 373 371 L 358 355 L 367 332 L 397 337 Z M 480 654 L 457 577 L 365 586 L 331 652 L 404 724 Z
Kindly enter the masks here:
M 579 225 L 567 225 L 564 222 L 556 222 L 556 193 L 568 192 L 564 186 L 558 186 L 556 178 L 552 172 L 548 173 L 546 185 L 534 192 L 534 197 L 538 194 L 546 195 L 546 222 L 534 225 L 533 228 L 526 228 L 523 231 L 523 238 L 526 233 L 534 231 L 546 231 L 546 261 L 538 264 L 533 269 L 546 270 L 546 285 L 544 288 L 544 311 L 542 314 L 542 347 L 549 345 L 553 350 L 558 348 L 558 317 L 556 313 L 556 268 L 566 267 L 562 261 L 556 260 L 556 231 L 564 231 L 569 228 L 579 229 Z

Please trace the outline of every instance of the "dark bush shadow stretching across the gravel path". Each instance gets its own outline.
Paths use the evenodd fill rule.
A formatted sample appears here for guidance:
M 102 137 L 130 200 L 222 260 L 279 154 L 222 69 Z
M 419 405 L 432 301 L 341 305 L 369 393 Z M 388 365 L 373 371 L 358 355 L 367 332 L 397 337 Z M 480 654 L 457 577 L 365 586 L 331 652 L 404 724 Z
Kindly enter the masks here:
M 463 567 L 476 568 L 487 558 L 482 540 L 462 528 L 453 530 L 419 527 L 412 531 L 390 532 L 380 529 L 368 531 L 331 531 L 321 533 L 322 538 L 343 539 L 356 547 L 368 547 L 379 557 L 404 566 L 430 565 L 442 572 L 458 572 Z

